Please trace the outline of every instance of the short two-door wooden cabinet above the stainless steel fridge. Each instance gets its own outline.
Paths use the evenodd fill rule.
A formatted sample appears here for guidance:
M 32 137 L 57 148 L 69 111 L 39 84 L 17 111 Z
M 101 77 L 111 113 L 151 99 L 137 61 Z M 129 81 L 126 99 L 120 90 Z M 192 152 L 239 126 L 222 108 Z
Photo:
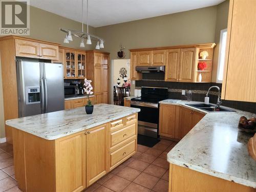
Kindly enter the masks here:
M 40 59 L 58 60 L 58 45 L 46 44 L 40 41 L 15 39 L 16 56 Z

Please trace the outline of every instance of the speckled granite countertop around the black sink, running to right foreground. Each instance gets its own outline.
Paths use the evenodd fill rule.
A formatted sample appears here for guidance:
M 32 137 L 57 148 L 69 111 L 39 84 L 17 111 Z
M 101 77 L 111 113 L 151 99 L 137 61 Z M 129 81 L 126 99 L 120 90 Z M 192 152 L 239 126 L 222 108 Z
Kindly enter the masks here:
M 167 161 L 256 188 L 256 161 L 249 156 L 247 150 L 247 142 L 253 134 L 238 129 L 241 116 L 249 118 L 256 117 L 256 114 L 236 109 L 233 109 L 236 112 L 207 113 L 185 105 L 200 102 L 172 101 L 167 99 L 160 103 L 185 106 L 206 115 L 167 154 Z

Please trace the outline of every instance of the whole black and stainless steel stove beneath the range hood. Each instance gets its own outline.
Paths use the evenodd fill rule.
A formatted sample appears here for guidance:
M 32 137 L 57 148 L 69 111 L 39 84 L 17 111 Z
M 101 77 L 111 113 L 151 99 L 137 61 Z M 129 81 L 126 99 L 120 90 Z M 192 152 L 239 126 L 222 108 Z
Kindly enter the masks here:
M 141 97 L 131 99 L 139 108 L 138 134 L 158 138 L 159 101 L 168 98 L 168 88 L 141 87 Z

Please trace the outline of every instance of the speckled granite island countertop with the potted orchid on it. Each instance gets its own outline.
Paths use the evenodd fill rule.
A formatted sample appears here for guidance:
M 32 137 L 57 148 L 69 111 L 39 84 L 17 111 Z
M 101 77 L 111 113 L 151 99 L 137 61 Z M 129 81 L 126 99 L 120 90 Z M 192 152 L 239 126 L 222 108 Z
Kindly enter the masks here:
M 112 104 L 95 104 L 92 115 L 84 107 L 7 120 L 6 124 L 32 135 L 53 140 L 140 112 Z

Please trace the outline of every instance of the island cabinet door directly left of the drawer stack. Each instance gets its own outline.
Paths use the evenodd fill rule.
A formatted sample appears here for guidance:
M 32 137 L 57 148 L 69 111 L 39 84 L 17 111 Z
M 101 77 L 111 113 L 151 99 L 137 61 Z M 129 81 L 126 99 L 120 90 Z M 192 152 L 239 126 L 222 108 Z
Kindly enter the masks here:
M 106 174 L 106 127 L 101 125 L 87 132 L 87 186 Z

